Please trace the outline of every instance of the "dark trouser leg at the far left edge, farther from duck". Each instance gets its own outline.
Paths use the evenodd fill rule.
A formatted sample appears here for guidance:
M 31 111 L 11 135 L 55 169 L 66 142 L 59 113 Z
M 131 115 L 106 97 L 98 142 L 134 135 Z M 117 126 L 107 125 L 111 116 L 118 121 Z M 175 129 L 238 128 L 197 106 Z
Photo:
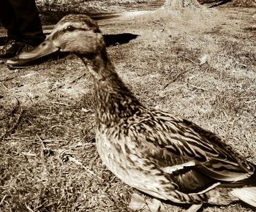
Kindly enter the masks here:
M 15 18 L 15 11 L 12 9 L 8 0 L 0 0 L 0 20 L 7 29 L 7 34 L 10 39 L 20 39 L 20 29 Z

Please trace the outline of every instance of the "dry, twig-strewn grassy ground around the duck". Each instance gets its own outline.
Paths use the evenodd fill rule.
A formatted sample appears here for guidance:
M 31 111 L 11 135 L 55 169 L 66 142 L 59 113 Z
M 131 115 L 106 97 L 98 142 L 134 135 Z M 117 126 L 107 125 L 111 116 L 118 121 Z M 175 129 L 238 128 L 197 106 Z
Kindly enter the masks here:
M 255 7 L 165 4 L 99 26 L 103 34 L 138 35 L 112 42 L 108 53 L 144 105 L 194 121 L 256 163 L 255 20 Z M 141 193 L 99 159 L 94 86 L 80 59 L 25 69 L 1 61 L 0 70 L 0 211 L 131 211 L 131 195 Z M 162 211 L 184 208 L 163 203 Z M 238 202 L 203 211 L 252 209 Z

